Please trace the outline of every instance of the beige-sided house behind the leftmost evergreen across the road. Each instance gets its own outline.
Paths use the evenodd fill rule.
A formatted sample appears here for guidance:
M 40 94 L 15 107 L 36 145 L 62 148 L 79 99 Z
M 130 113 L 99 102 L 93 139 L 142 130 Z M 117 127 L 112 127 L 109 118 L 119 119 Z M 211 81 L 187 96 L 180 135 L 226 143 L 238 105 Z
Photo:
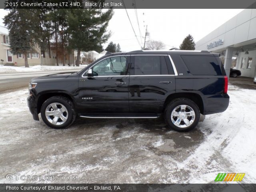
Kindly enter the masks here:
M 0 26 L 0 60 L 4 60 L 5 65 L 24 66 L 25 60 L 23 54 L 14 55 L 10 49 L 10 38 L 8 29 Z M 41 50 L 38 46 L 34 47 L 34 51 L 28 54 L 28 64 L 30 66 L 41 64 Z

